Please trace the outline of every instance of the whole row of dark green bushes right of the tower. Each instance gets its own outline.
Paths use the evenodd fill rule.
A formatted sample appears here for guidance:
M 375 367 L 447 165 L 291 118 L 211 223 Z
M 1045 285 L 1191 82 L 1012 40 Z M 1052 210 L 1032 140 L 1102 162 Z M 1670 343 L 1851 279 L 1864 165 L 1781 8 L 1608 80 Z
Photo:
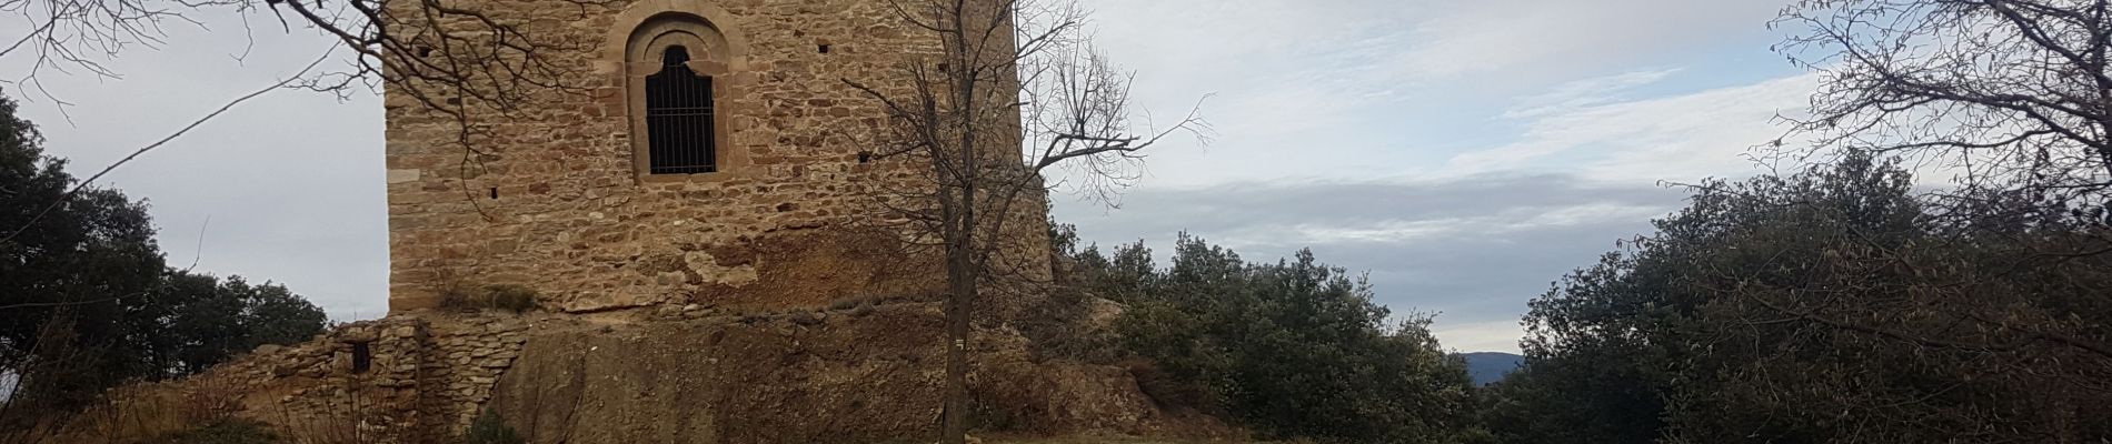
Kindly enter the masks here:
M 2112 215 L 2042 191 L 1918 191 L 1899 160 L 1690 185 L 1656 231 L 1529 303 L 1489 387 L 1356 274 L 1181 236 L 1102 253 L 1058 225 L 1045 354 L 1132 368 L 1164 408 L 1320 442 L 2112 440 Z M 1026 328 L 1035 332 L 1035 328 Z M 1050 345 L 1043 345 L 1050 347 Z

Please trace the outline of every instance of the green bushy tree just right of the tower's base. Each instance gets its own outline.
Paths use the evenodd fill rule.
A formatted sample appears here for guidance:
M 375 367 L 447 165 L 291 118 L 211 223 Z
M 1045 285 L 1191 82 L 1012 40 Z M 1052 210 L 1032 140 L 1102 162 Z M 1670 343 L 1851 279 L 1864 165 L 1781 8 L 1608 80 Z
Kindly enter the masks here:
M 1392 324 L 1371 284 L 1314 259 L 1248 263 L 1183 234 L 1172 267 L 1138 244 L 1071 255 L 1079 286 L 1128 305 L 1132 375 L 1162 404 L 1225 412 L 1278 438 L 1455 442 L 1472 431 L 1466 364 L 1430 316 Z

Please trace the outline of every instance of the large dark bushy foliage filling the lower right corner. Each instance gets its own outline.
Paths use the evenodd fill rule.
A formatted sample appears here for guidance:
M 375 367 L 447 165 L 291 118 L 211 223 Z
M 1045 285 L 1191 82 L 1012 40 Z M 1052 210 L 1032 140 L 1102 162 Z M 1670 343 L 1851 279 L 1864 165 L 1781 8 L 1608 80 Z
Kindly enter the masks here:
M 1506 442 L 2097 442 L 2101 223 L 1852 156 L 1696 187 L 1531 303 Z M 2042 202 L 2042 200 L 2040 200 Z M 1939 210 L 1941 208 L 1941 210 Z

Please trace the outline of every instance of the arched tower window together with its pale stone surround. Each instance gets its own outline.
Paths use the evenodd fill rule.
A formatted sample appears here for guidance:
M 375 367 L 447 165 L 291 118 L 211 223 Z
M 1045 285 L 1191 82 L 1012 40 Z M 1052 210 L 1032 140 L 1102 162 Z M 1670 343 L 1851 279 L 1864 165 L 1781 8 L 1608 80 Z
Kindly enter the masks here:
M 640 177 L 722 173 L 729 44 L 691 15 L 642 23 L 625 48 L 631 145 Z

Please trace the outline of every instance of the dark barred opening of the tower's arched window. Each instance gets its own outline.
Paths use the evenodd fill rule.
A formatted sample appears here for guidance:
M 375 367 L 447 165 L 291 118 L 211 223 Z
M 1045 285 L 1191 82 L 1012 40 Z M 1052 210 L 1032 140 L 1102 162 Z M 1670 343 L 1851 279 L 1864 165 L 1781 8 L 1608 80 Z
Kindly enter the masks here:
M 689 69 L 689 48 L 667 46 L 646 76 L 646 162 L 650 175 L 718 173 L 712 78 Z

